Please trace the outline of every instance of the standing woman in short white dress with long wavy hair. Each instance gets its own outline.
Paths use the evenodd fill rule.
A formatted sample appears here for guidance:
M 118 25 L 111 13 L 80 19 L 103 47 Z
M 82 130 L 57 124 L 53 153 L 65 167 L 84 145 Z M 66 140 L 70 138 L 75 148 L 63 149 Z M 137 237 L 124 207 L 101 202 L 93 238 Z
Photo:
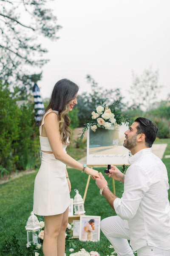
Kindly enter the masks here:
M 79 87 L 73 82 L 59 80 L 40 124 L 42 162 L 34 184 L 33 212 L 45 221 L 42 250 L 44 256 L 64 256 L 65 229 L 68 224 L 71 183 L 66 165 L 99 177 L 96 170 L 82 166 L 65 149 L 71 139 L 68 112 L 77 104 Z

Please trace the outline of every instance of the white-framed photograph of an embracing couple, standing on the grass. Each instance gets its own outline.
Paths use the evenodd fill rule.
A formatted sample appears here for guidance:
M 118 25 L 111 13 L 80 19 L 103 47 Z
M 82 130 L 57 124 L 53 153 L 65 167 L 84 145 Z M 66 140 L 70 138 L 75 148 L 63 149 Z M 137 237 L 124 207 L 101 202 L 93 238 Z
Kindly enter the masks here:
M 100 216 L 80 215 L 79 240 L 100 240 Z

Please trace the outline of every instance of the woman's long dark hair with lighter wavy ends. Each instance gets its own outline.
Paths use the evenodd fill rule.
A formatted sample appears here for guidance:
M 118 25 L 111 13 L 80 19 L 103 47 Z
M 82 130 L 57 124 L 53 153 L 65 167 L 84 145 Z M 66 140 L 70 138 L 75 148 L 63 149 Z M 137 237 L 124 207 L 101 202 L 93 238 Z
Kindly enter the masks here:
M 75 98 L 79 87 L 68 79 L 59 80 L 53 88 L 51 99 L 45 108 L 45 113 L 51 108 L 59 113 L 59 132 L 63 144 L 71 140 L 70 118 L 68 116 L 69 102 Z

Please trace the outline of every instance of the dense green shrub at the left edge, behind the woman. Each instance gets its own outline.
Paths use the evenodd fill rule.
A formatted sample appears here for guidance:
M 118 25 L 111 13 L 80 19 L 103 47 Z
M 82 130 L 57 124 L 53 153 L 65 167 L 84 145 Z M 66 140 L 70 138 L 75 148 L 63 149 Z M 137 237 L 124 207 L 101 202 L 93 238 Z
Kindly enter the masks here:
M 26 169 L 39 158 L 39 140 L 35 136 L 34 105 L 19 107 L 16 93 L 0 84 L 0 164 L 2 173 Z M 34 161 L 33 161 L 34 160 Z M 3 168 L 3 169 L 2 169 Z M 6 171 L 5 171 L 6 170 Z

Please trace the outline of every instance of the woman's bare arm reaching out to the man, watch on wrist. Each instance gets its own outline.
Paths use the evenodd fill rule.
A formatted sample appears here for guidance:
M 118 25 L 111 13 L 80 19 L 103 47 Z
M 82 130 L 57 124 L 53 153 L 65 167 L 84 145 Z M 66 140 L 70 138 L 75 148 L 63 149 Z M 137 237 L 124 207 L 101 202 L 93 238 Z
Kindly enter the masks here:
M 51 112 L 47 116 L 45 116 L 44 120 L 44 129 L 45 134 L 48 137 L 48 141 L 51 145 L 51 149 L 53 151 L 54 157 L 60 160 L 62 163 L 82 171 L 83 166 L 81 163 L 77 162 L 74 158 L 69 156 L 67 153 L 63 151 L 62 142 L 59 134 L 59 121 L 56 113 Z M 92 175 L 95 177 L 99 177 L 99 172 L 93 170 L 91 168 L 86 167 L 85 172 L 88 175 Z

